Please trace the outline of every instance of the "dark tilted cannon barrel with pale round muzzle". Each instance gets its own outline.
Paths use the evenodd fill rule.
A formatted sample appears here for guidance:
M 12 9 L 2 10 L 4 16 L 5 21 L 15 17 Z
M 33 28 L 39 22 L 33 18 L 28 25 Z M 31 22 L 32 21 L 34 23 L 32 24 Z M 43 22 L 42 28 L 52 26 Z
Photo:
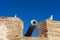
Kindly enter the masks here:
M 25 36 L 30 37 L 35 29 L 35 27 L 37 26 L 38 22 L 36 20 L 31 20 L 31 24 L 25 34 Z

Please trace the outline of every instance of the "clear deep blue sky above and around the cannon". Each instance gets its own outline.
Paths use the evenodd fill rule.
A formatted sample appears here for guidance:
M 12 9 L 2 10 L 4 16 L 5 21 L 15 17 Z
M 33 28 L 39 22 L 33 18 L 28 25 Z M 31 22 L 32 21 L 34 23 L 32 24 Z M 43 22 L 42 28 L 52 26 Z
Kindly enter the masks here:
M 52 14 L 60 20 L 60 0 L 0 0 L 0 16 L 15 14 L 24 21 L 25 34 L 32 19 L 40 22 Z M 37 29 L 32 36 L 37 36 Z

